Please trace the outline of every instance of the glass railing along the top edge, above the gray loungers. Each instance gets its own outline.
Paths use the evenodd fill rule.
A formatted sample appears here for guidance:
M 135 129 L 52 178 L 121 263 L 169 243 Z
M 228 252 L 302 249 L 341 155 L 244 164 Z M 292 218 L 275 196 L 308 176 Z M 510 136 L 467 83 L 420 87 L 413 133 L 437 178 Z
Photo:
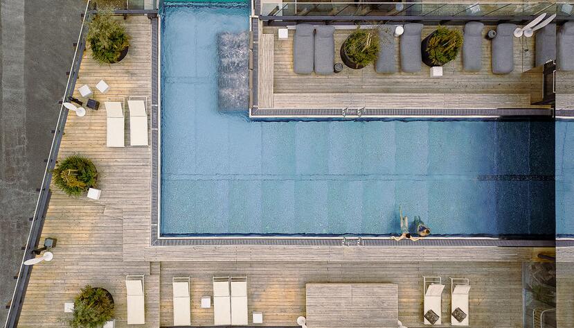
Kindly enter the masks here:
M 568 9 L 568 3 L 413 3 L 262 1 L 262 16 L 533 16 Z M 571 10 L 573 13 L 574 10 Z M 566 14 L 565 14 L 566 15 Z M 571 15 L 571 14 L 568 14 Z

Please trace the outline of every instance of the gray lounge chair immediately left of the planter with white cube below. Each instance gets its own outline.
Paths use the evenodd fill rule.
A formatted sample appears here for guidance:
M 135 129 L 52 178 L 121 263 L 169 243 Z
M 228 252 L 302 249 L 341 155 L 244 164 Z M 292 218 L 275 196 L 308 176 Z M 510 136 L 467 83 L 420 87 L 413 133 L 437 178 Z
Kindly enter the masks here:
M 420 53 L 420 33 L 422 24 L 404 24 L 401 36 L 401 69 L 406 73 L 420 71 L 422 54 Z

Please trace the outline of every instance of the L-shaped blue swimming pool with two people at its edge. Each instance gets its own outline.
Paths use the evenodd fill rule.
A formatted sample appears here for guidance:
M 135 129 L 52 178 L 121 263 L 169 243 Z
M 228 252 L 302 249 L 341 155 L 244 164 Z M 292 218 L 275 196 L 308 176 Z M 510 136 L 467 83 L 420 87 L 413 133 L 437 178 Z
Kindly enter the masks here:
M 167 4 L 161 27 L 162 236 L 553 236 L 553 122 L 249 121 L 217 110 L 221 32 L 246 3 Z M 550 224 L 549 224 L 550 223 Z

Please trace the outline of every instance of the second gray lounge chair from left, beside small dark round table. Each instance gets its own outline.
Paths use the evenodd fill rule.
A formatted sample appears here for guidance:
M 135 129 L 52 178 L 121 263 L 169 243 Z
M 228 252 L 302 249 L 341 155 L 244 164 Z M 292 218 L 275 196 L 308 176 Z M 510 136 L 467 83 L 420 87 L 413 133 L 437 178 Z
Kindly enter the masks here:
M 317 26 L 315 28 L 315 73 L 334 74 L 335 64 L 334 26 Z

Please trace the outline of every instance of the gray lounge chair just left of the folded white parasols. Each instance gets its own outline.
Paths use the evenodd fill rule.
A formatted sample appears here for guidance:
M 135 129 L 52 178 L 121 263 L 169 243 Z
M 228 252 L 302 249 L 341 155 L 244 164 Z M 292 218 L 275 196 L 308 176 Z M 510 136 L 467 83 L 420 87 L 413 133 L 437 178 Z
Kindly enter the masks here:
M 508 74 L 514 70 L 514 24 L 500 24 L 492 39 L 492 73 Z

